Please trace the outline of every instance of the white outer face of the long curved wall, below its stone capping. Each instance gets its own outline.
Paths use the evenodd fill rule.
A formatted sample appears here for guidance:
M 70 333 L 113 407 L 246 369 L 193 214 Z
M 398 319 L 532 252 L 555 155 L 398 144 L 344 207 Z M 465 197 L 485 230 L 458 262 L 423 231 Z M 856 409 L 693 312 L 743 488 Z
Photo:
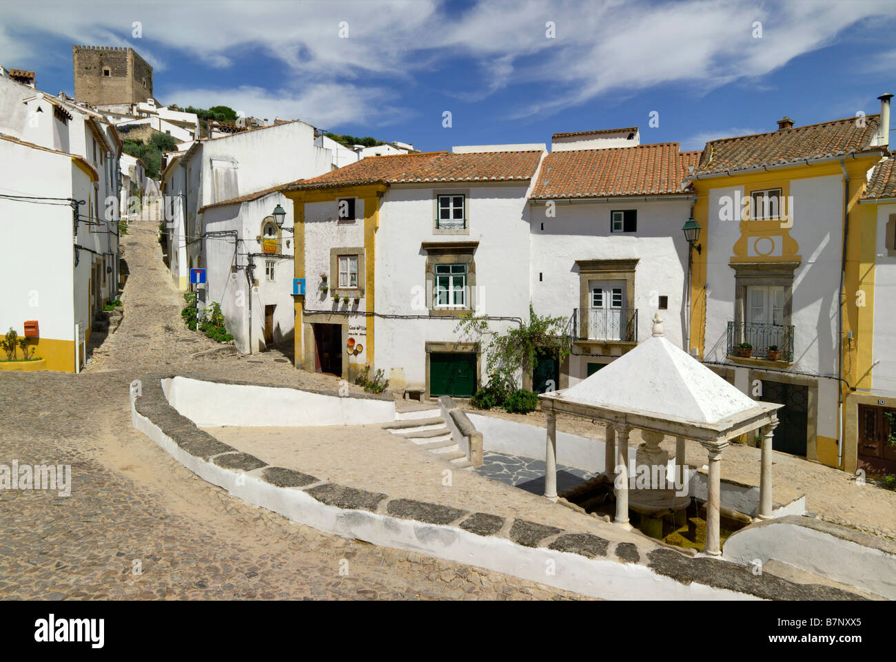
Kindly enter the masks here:
M 223 469 L 190 455 L 164 434 L 149 418 L 138 414 L 131 400 L 134 427 L 212 485 L 223 487 L 246 503 L 253 503 L 289 520 L 341 537 L 364 540 L 465 563 L 493 572 L 538 581 L 558 589 L 610 600 L 754 600 L 745 593 L 714 589 L 692 581 L 682 584 L 659 575 L 639 563 L 589 559 L 546 548 L 516 545 L 506 538 L 483 537 L 450 526 L 402 520 L 375 512 L 343 510 L 318 502 L 297 487 L 277 487 L 264 482 L 263 469 L 242 472 Z M 550 562 L 550 563 L 549 563 Z M 546 568 L 553 566 L 553 573 Z

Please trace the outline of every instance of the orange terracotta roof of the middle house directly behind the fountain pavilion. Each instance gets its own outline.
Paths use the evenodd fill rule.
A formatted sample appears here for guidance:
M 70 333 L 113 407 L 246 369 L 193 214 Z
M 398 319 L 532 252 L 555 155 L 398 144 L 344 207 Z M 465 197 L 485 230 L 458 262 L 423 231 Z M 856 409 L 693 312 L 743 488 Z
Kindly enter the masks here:
M 698 159 L 699 151 L 679 151 L 677 142 L 554 151 L 542 162 L 530 198 L 683 193 L 687 167 L 696 166 Z

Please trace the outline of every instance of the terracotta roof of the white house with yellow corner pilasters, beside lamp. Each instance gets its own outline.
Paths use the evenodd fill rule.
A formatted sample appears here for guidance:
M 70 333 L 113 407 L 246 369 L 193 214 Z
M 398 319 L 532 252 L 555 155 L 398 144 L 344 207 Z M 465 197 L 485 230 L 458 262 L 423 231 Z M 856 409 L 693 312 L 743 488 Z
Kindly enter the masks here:
M 527 181 L 535 175 L 541 154 L 538 150 L 463 154 L 428 151 L 367 157 L 324 175 L 293 182 L 281 190 L 412 182 Z

